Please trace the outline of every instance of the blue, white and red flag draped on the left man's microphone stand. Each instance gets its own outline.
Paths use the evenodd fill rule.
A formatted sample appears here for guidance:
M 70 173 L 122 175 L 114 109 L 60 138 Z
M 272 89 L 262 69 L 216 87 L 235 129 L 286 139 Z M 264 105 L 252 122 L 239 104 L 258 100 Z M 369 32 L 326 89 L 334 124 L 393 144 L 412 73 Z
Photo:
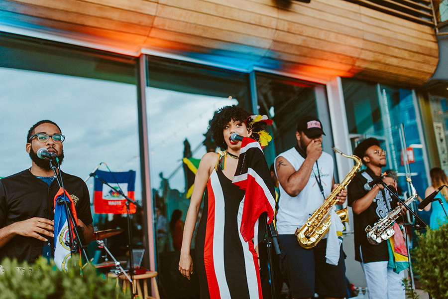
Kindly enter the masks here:
M 70 223 L 70 229 L 72 231 L 72 237 L 75 235 L 73 228 L 78 225 L 78 217 L 76 216 L 75 203 L 72 200 L 70 194 L 67 191 L 63 191 L 62 188 L 54 196 L 54 263 L 64 272 L 67 271 L 68 262 L 71 259 L 70 247 L 65 242 L 71 243 L 69 225 L 71 222 L 65 209 L 65 204 L 58 204 L 58 199 L 67 201 L 70 204 L 73 217 L 76 223 Z

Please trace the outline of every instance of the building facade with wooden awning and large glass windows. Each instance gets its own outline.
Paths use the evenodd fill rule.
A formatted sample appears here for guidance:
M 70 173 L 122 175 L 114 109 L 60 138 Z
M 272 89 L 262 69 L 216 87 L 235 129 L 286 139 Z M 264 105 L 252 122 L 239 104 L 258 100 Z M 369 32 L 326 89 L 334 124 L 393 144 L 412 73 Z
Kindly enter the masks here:
M 135 170 L 143 210 L 133 216 L 133 247 L 145 249 L 143 265 L 159 272 L 168 298 L 194 298 L 197 281 L 173 274 L 179 253 L 168 223 L 157 234 L 156 207 L 167 222 L 176 209 L 185 219 L 183 158 L 211 147 L 207 126 L 220 107 L 274 120 L 268 163 L 294 146 L 307 114 L 323 122 L 327 152 L 352 153 L 376 137 L 403 189 L 410 173 L 424 194 L 429 169 L 448 170 L 447 0 L 383 2 L 399 1 L 0 1 L 1 126 L 14 151 L 0 157 L 0 177 L 29 167 L 20 136 L 41 119 L 67 137 L 63 170 L 85 177 L 101 162 Z M 335 160 L 342 180 L 353 164 Z M 120 216 L 94 219 L 100 230 L 124 225 Z M 124 258 L 127 239 L 113 238 Z M 358 276 L 347 272 L 362 285 Z

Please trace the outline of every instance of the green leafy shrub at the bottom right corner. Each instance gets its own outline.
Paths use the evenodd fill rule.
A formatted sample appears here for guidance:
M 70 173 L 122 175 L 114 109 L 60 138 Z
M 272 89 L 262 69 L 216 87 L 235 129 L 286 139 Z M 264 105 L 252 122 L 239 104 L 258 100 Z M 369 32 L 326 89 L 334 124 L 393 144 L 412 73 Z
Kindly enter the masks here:
M 433 298 L 448 299 L 448 223 L 425 235 L 419 234 L 414 257 L 424 290 Z

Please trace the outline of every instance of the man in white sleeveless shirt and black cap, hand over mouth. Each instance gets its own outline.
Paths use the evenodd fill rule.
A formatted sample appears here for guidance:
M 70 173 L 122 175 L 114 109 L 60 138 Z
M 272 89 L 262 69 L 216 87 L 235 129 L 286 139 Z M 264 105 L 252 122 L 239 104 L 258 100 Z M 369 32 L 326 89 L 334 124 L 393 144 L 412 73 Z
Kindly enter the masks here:
M 322 151 L 322 135 L 325 133 L 319 119 L 301 119 L 297 125 L 297 145 L 275 159 L 280 189 L 276 223 L 280 263 L 291 297 L 295 299 L 311 298 L 315 293 L 327 299 L 347 297 L 340 244 L 343 225 L 339 217 L 331 219 L 332 225 L 340 225 L 340 230 L 330 229 L 325 239 L 313 248 L 302 248 L 294 235 L 337 186 L 333 178 L 333 157 Z M 336 198 L 337 204 L 345 202 L 346 190 Z

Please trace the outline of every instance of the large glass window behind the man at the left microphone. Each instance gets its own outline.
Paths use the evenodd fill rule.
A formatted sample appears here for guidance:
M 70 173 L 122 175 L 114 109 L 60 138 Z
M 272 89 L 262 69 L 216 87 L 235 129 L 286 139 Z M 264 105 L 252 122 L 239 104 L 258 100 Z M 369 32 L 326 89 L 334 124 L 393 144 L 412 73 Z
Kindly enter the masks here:
M 134 59 L 11 35 L 0 35 L 0 57 L 0 123 L 8 136 L 1 145 L 9 153 L 0 156 L 0 177 L 30 167 L 26 135 L 32 125 L 49 119 L 65 135 L 63 171 L 85 179 L 100 162 L 112 171 L 134 170 L 135 198 L 141 203 Z M 108 171 L 105 165 L 100 169 Z M 93 179 L 87 184 L 93 198 Z M 106 216 L 93 214 L 94 226 L 117 228 L 113 215 Z M 133 246 L 141 247 L 141 220 L 134 224 Z M 108 238 L 107 246 L 126 261 L 127 234 L 116 238 Z M 104 261 L 96 242 L 89 253 L 94 263 Z

